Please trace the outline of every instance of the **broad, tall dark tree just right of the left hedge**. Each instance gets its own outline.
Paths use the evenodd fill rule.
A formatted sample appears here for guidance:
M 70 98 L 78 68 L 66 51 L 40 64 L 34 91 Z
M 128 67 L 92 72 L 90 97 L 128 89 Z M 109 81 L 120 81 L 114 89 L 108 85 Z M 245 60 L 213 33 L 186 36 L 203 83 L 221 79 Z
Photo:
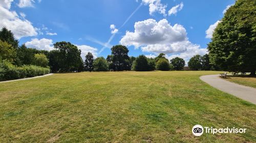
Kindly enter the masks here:
M 82 70 L 81 50 L 78 50 L 76 45 L 65 41 L 56 42 L 53 45 L 56 50 L 49 54 L 49 64 L 53 72 Z

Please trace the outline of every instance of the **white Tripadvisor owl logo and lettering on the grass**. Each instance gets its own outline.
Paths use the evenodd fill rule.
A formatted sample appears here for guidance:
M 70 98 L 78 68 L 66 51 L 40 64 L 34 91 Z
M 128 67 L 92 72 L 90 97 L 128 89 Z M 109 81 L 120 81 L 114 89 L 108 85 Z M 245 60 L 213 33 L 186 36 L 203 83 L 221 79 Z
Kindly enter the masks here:
M 219 129 L 216 129 L 216 128 L 212 128 L 212 127 L 202 127 L 201 125 L 195 125 L 193 128 L 192 128 L 192 133 L 195 135 L 195 136 L 201 136 L 204 132 L 205 133 L 210 133 L 210 134 L 216 134 L 216 133 L 245 133 L 246 129 L 238 129 L 238 128 L 219 128 Z

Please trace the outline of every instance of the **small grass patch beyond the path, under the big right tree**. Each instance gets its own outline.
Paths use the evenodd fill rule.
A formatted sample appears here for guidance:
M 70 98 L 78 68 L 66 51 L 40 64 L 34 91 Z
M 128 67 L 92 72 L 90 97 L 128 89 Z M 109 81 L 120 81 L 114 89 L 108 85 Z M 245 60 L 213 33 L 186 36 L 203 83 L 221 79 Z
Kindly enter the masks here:
M 230 82 L 238 83 L 245 86 L 256 88 L 256 77 L 251 76 L 228 76 L 227 79 Z

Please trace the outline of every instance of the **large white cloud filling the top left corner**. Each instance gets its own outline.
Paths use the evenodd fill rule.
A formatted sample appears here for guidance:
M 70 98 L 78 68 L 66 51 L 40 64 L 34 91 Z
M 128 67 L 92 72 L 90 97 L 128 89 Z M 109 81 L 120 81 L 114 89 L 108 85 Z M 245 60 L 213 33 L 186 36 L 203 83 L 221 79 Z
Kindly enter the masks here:
M 0 28 L 8 28 L 17 39 L 36 36 L 36 28 L 32 26 L 29 20 L 23 17 L 25 15 L 20 15 L 21 17 L 19 17 L 15 11 L 10 11 L 11 3 L 12 1 L 10 0 L 0 2 Z

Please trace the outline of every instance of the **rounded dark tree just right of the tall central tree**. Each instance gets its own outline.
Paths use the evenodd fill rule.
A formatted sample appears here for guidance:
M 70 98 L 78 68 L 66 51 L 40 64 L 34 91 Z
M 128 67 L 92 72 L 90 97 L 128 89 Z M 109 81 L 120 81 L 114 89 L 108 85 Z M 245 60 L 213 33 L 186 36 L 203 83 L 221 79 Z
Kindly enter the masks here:
M 139 55 L 133 62 L 134 71 L 150 71 L 147 57 L 144 55 Z

